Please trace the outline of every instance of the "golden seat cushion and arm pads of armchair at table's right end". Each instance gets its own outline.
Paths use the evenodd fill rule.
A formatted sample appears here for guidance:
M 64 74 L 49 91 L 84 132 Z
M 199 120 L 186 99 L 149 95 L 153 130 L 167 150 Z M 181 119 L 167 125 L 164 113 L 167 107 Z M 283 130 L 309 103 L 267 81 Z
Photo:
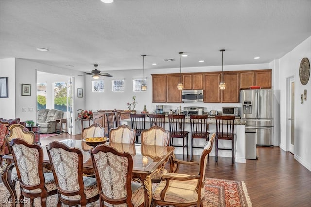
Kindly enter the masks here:
M 168 173 L 175 177 L 186 177 L 187 174 Z M 174 203 L 191 203 L 198 199 L 198 194 L 195 191 L 198 179 L 177 181 L 171 180 L 170 185 L 166 191 L 164 201 Z M 166 181 L 161 181 L 155 188 L 152 189 L 152 198 L 155 200 L 161 200 L 161 192 L 166 185 Z M 201 189 L 201 198 L 204 197 L 205 188 L 204 185 Z

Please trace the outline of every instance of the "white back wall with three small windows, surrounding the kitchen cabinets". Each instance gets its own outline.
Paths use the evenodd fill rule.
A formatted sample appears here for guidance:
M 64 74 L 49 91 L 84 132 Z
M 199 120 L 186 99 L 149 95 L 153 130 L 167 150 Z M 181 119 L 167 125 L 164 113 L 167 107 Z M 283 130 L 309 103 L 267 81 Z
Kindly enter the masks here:
M 233 65 L 224 66 L 224 71 L 233 70 L 255 70 L 255 69 L 269 69 L 269 64 L 251 64 L 251 65 Z M 200 68 L 182 68 L 182 72 L 212 72 L 221 71 L 221 66 L 200 67 Z M 106 72 L 106 71 L 105 71 Z M 221 110 L 222 106 L 240 106 L 239 103 L 152 103 L 151 94 L 151 74 L 163 74 L 163 73 L 179 73 L 179 68 L 175 69 L 145 69 L 145 76 L 147 77 L 147 91 L 146 92 L 133 92 L 132 91 L 132 79 L 142 78 L 142 69 L 138 70 L 124 70 L 124 71 L 107 71 L 112 78 L 101 77 L 98 80 L 104 79 L 104 92 L 92 92 L 91 76 L 85 77 L 85 89 L 84 95 L 86 96 L 86 109 L 93 111 L 99 109 L 127 109 L 127 102 L 132 102 L 133 96 L 136 96 L 138 102 L 135 109 L 142 111 L 143 106 L 147 105 L 147 110 L 152 112 L 155 109 L 156 104 L 164 105 L 164 111 L 169 109 L 176 109 L 181 105 L 182 108 L 186 106 L 200 106 L 206 107 L 207 111 L 212 109 Z M 124 92 L 111 92 L 111 80 L 124 79 L 125 91 Z M 177 87 L 177 86 L 176 86 Z

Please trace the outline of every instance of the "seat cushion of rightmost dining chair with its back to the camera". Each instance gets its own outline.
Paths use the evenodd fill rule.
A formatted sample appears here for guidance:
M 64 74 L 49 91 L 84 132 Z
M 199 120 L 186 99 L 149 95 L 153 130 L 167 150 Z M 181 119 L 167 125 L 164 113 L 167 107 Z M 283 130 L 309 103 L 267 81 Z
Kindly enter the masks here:
M 144 202 L 144 190 L 142 185 L 139 182 L 132 182 L 132 204 L 134 207 L 140 206 Z M 119 205 L 112 205 L 107 202 L 104 202 L 107 207 L 127 207 L 127 204 L 119 204 Z

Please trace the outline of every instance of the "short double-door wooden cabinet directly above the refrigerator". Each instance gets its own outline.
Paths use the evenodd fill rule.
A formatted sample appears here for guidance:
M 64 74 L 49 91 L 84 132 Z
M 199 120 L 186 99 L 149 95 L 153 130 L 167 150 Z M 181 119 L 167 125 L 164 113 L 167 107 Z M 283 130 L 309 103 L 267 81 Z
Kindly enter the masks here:
M 250 86 L 271 88 L 271 70 L 252 70 L 240 72 L 240 89 L 250 89 Z

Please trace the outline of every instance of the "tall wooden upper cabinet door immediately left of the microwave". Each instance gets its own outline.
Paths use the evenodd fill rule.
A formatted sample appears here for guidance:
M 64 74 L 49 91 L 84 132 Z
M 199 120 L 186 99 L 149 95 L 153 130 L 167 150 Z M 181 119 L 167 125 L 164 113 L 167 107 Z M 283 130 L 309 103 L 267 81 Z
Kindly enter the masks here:
M 180 74 L 169 74 L 166 76 L 166 102 L 181 102 L 181 90 L 177 88 L 179 82 Z

